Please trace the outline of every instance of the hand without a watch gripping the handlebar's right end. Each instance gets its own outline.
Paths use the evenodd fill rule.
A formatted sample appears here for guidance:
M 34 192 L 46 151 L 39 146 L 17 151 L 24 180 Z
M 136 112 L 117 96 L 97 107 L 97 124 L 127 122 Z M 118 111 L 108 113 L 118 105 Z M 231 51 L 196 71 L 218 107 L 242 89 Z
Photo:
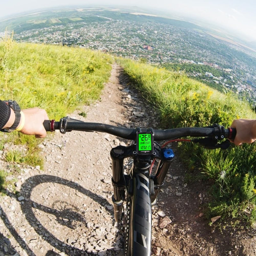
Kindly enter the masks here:
M 237 119 L 233 121 L 231 127 L 236 128 L 236 138 L 231 140 L 235 145 L 252 143 L 256 140 L 256 120 Z

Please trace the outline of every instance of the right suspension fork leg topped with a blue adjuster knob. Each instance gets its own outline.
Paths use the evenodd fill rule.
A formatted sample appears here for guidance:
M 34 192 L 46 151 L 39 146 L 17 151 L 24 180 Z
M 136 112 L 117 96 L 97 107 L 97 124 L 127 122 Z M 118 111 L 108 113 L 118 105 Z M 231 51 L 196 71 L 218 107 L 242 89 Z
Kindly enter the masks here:
M 169 170 L 172 160 L 174 159 L 174 153 L 172 149 L 162 148 L 160 152 L 160 160 L 156 170 L 155 176 L 153 176 L 154 181 L 154 195 L 151 195 L 151 203 L 154 204 L 156 197 L 160 189 L 164 185 L 165 176 Z

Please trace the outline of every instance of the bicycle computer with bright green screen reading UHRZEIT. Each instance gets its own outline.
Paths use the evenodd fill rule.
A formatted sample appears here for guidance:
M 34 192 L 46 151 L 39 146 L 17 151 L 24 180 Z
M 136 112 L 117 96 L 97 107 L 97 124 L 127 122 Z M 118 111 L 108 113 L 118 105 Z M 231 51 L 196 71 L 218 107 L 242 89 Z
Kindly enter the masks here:
M 154 152 L 152 132 L 137 132 L 137 154 L 151 155 Z

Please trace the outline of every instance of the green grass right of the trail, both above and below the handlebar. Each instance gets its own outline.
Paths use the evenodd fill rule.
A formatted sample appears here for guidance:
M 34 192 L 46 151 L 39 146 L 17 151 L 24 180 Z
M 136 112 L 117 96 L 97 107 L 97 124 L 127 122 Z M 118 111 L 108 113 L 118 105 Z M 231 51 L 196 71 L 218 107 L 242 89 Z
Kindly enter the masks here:
M 229 127 L 236 118 L 253 118 L 249 104 L 230 92 L 222 94 L 187 76 L 132 60 L 117 59 L 132 84 L 159 111 L 162 128 L 206 126 L 214 123 Z M 191 171 L 212 185 L 212 202 L 206 216 L 221 215 L 256 221 L 256 144 L 232 146 L 226 151 L 198 146 L 181 147 L 182 159 Z M 244 210 L 250 209 L 250 214 Z

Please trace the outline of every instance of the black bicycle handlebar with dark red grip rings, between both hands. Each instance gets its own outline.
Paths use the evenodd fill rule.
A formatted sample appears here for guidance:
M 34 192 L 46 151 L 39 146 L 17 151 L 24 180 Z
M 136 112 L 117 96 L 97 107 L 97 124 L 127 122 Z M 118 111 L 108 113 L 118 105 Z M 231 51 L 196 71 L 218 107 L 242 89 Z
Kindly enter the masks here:
M 87 123 L 80 120 L 71 119 L 69 117 L 64 117 L 60 119 L 60 122 L 55 120 L 45 120 L 44 128 L 46 131 L 53 132 L 55 130 L 60 130 L 61 133 L 70 131 L 84 131 L 84 132 L 106 132 L 117 137 L 135 140 L 136 129 L 124 128 L 113 126 L 109 124 L 101 123 Z M 142 132 L 147 132 L 147 129 L 141 129 Z M 222 140 L 224 138 L 234 139 L 236 136 L 236 129 L 228 128 L 225 129 L 223 126 L 214 124 L 207 127 L 183 127 L 174 128 L 167 130 L 154 130 L 154 140 L 172 140 L 181 137 L 212 137 L 216 140 Z

